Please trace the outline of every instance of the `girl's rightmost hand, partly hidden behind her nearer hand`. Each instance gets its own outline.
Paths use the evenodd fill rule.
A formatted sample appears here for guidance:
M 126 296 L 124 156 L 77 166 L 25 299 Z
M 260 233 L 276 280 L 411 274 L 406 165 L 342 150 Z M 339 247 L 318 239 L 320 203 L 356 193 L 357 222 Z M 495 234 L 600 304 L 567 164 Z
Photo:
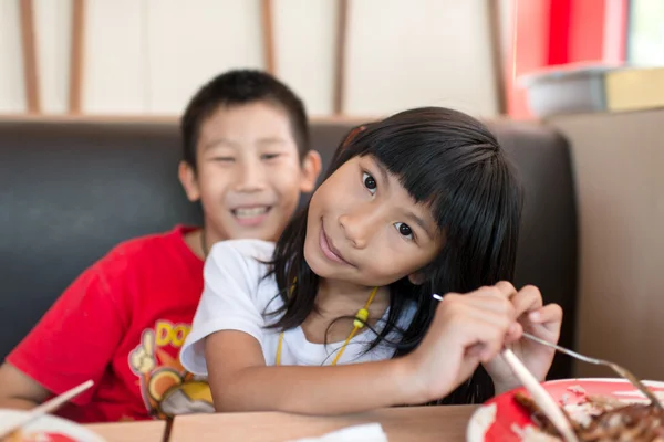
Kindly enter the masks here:
M 560 326 L 562 324 L 562 309 L 556 304 L 542 306 L 540 291 L 531 285 L 521 288 L 511 296 L 517 320 L 525 332 L 528 332 L 549 343 L 558 343 Z M 520 332 L 519 332 L 520 335 Z M 547 377 L 556 350 L 533 343 L 526 338 L 508 344 L 509 348 L 523 361 L 530 372 L 539 380 Z M 485 364 L 485 368 L 494 379 L 496 393 L 501 393 L 519 387 L 520 382 L 501 357 Z

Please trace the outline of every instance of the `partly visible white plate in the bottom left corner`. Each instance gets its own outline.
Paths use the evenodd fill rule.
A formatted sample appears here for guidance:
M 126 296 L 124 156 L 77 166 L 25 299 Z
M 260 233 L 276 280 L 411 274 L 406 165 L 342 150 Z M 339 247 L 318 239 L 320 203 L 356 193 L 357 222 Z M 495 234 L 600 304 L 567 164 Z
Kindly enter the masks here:
M 1 410 L 0 424 L 14 421 L 28 411 Z M 43 415 L 25 425 L 21 433 L 23 440 L 39 442 L 104 442 L 98 434 L 75 422 L 54 415 Z M 39 438 L 38 438 L 39 435 Z

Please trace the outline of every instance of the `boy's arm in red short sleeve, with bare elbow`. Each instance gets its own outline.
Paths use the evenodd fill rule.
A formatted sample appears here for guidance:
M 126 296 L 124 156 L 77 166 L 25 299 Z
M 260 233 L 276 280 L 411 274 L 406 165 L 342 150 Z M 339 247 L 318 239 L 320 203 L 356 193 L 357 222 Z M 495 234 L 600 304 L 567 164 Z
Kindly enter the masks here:
M 0 407 L 29 408 L 89 379 L 98 383 L 126 328 L 126 267 L 104 259 L 81 274 L 0 367 Z M 83 406 L 95 388 L 76 397 Z

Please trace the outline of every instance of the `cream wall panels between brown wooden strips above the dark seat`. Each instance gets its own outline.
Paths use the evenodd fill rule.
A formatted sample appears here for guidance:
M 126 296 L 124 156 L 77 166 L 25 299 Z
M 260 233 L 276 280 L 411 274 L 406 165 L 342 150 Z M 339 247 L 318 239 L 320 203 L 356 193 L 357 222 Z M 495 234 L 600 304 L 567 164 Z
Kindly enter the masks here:
M 24 109 L 17 0 L 0 0 L 0 112 Z M 35 0 L 42 110 L 65 113 L 71 0 Z M 496 114 L 485 0 L 350 0 L 344 113 Z M 336 0 L 273 0 L 277 75 L 333 113 Z M 264 67 L 260 0 L 86 0 L 83 112 L 179 114 L 212 75 Z

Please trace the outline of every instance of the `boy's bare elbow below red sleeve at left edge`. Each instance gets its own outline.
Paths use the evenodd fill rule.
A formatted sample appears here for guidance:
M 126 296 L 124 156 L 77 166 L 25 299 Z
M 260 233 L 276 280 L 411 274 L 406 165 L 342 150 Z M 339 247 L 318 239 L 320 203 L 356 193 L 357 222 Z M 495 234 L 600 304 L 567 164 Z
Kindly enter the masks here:
M 29 410 L 50 396 L 49 390 L 8 362 L 0 366 L 0 409 Z

